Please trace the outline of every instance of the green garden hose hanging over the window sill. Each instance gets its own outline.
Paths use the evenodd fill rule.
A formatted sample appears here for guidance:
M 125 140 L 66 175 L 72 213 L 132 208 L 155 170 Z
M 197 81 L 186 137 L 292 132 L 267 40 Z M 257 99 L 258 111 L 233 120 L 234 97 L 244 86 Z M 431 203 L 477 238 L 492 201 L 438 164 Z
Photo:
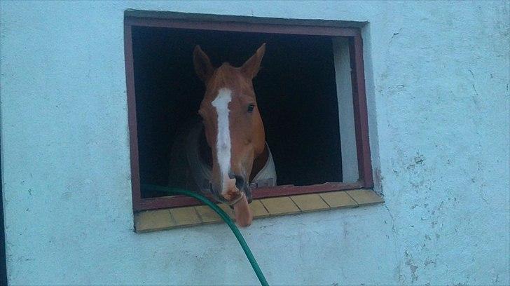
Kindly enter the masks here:
M 202 203 L 205 203 L 205 205 L 208 205 L 209 207 L 211 207 L 212 210 L 214 210 L 214 212 L 219 214 L 219 216 L 223 219 L 223 221 L 225 221 L 226 224 L 228 224 L 228 226 L 234 233 L 235 238 L 237 238 L 237 241 L 239 241 L 239 244 L 241 245 L 242 250 L 244 250 L 244 254 L 246 254 L 246 257 L 248 258 L 248 261 L 251 264 L 251 267 L 255 271 L 257 278 L 259 278 L 261 285 L 262 286 L 269 285 L 268 281 L 266 280 L 266 277 L 264 277 L 264 275 L 261 271 L 261 268 L 259 267 L 259 264 L 257 264 L 255 257 L 251 253 L 251 250 L 249 249 L 248 244 L 246 243 L 246 240 L 244 240 L 244 238 L 242 237 L 241 232 L 239 231 L 239 229 L 237 229 L 237 226 L 235 226 L 234 222 L 232 222 L 232 219 L 230 219 L 230 217 L 228 217 L 228 214 L 223 212 L 223 210 L 221 210 L 221 208 L 218 207 L 215 203 L 212 203 L 210 200 L 208 200 L 204 196 L 201 196 L 198 193 L 194 193 L 192 191 L 186 191 L 183 189 L 175 189 L 175 188 L 170 188 L 167 186 L 154 186 L 154 185 L 149 185 L 149 184 L 142 184 L 142 188 L 153 189 L 154 191 L 162 191 L 162 192 L 168 193 L 169 195 L 179 194 L 179 195 L 184 195 L 184 196 L 191 196 L 192 198 L 196 198 L 197 200 L 200 200 Z

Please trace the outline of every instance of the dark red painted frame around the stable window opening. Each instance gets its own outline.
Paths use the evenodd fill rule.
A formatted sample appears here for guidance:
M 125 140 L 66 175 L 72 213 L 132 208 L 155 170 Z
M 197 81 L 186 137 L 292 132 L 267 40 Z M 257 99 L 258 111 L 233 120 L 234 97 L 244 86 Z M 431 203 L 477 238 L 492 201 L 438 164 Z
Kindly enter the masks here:
M 359 168 L 359 180 L 355 183 L 328 182 L 310 186 L 274 186 L 254 190 L 253 198 L 268 198 L 275 196 L 289 196 L 303 193 L 319 193 L 326 191 L 340 191 L 359 188 L 372 188 L 372 166 L 370 146 L 368 142 L 368 114 L 366 109 L 365 76 L 363 63 L 363 40 L 361 29 L 356 27 L 335 27 L 324 25 L 305 25 L 291 23 L 268 23 L 265 22 L 235 22 L 232 16 L 228 21 L 221 18 L 151 18 L 126 16 L 124 20 L 124 43 L 125 43 L 125 71 L 127 84 L 127 113 L 130 130 L 130 155 L 131 155 L 131 184 L 133 210 L 153 210 L 166 207 L 182 207 L 186 205 L 200 204 L 193 198 L 186 196 L 172 196 L 160 198 L 142 198 L 139 177 L 137 114 L 135 100 L 135 76 L 132 55 L 132 27 L 167 27 L 178 29 L 205 29 L 214 31 L 232 32 L 258 32 L 269 34 L 301 34 L 322 36 L 344 36 L 349 39 L 350 65 L 352 78 L 352 100 L 354 105 L 354 129 L 356 133 L 357 158 Z

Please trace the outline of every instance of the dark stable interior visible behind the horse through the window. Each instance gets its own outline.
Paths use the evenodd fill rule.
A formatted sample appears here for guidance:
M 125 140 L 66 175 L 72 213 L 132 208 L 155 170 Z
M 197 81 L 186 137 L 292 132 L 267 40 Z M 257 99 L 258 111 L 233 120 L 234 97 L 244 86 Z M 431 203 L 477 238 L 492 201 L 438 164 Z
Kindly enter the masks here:
M 142 184 L 167 184 L 175 132 L 197 116 L 205 87 L 193 69 L 195 45 L 214 67 L 239 67 L 262 43 L 254 89 L 278 184 L 342 182 L 331 37 L 133 27 L 132 43 Z M 154 196 L 163 194 L 142 189 Z

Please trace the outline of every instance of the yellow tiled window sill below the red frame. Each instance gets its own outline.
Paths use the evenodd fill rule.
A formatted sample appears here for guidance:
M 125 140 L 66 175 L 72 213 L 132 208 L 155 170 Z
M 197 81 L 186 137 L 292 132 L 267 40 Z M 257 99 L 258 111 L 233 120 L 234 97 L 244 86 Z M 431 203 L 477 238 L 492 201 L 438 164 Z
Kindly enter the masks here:
M 359 207 L 383 203 L 384 200 L 370 189 L 350 191 L 331 191 L 326 193 L 310 193 L 277 198 L 261 198 L 250 203 L 254 219 L 275 217 L 284 214 L 300 214 L 345 207 Z M 220 204 L 230 217 L 233 211 L 225 204 Z M 175 207 L 164 210 L 148 210 L 135 214 L 135 231 L 146 233 L 177 229 L 179 227 L 214 224 L 222 222 L 216 212 L 205 205 L 195 207 Z

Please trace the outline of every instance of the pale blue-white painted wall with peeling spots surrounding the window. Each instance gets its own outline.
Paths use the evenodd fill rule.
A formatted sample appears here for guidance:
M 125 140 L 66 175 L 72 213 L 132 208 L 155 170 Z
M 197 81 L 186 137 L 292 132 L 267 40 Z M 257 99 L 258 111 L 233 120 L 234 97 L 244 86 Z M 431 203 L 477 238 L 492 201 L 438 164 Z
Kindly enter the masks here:
M 225 226 L 132 231 L 123 11 L 139 8 L 368 21 L 386 203 L 242 230 L 269 282 L 509 285 L 509 5 L 1 1 L 9 281 L 256 284 Z

